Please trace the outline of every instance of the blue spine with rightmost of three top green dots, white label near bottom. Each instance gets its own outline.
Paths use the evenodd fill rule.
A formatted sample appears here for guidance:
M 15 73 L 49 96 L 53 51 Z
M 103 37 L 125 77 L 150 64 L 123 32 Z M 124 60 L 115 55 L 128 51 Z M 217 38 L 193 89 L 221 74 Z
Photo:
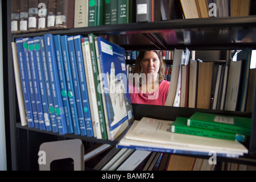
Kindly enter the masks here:
M 46 126 L 46 131 L 52 131 L 49 112 L 48 112 L 46 85 L 44 82 L 44 75 L 42 70 L 43 64 L 42 64 L 41 51 L 40 51 L 40 39 L 38 36 L 34 38 L 34 49 L 35 49 L 36 70 L 38 71 L 39 90 L 40 90 L 40 96 L 41 96 L 42 107 L 43 107 L 44 125 Z

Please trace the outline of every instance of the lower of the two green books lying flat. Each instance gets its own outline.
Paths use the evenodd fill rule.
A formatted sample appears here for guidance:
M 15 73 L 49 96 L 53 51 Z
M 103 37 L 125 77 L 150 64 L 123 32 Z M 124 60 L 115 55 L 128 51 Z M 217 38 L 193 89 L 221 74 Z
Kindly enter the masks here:
M 221 131 L 214 131 L 208 129 L 201 129 L 197 127 L 187 126 L 188 118 L 177 117 L 174 125 L 171 126 L 172 133 L 180 133 L 187 135 L 197 135 L 200 137 L 220 138 L 226 140 L 238 140 L 238 142 L 245 142 L 246 136 L 241 134 L 225 133 Z

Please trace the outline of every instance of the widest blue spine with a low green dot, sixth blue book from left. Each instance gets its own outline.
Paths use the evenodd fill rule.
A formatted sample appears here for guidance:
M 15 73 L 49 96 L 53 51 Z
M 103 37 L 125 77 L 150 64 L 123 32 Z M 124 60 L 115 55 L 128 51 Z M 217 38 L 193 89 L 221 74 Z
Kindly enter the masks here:
M 67 134 L 67 123 L 65 119 L 65 111 L 63 106 L 63 101 L 61 98 L 61 91 L 60 91 L 60 81 L 56 63 L 56 56 L 55 56 L 55 48 L 53 44 L 53 35 L 46 34 L 44 35 L 44 43 L 46 46 L 46 55 L 47 55 L 47 63 L 48 63 L 48 71 L 49 71 L 49 80 L 51 82 L 51 90 L 52 90 L 52 98 L 53 104 L 55 106 L 55 114 L 56 114 L 56 121 L 59 130 L 59 134 Z

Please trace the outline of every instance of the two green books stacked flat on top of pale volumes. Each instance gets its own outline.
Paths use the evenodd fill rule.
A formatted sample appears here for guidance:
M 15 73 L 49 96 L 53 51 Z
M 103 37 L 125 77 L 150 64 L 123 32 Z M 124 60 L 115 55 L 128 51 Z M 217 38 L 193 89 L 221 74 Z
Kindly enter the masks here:
M 245 142 L 251 131 L 251 118 L 196 112 L 189 118 L 177 117 L 172 133 L 197 135 Z

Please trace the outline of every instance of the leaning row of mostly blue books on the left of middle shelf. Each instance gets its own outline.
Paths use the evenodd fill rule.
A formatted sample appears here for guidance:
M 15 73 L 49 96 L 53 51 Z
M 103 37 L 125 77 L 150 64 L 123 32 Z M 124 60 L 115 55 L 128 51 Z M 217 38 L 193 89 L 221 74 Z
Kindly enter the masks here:
M 101 52 L 101 57 L 102 53 L 106 52 L 107 55 L 112 53 L 112 58 L 110 58 L 112 60 L 123 57 L 125 61 L 123 48 L 100 37 L 96 38 L 98 39 L 98 46 L 96 47 L 92 42 L 90 44 L 94 45 L 98 52 Z M 88 57 L 87 59 L 85 57 L 84 39 L 88 38 L 83 38 L 81 35 L 46 34 L 34 38 L 18 38 L 15 40 L 27 125 L 53 133 L 59 132 L 61 135 L 73 133 L 75 135 L 113 140 L 117 137 L 113 137 L 113 133 L 118 133 L 119 127 L 123 123 L 127 125 L 129 119 L 133 118 L 130 96 L 128 92 L 128 94 L 125 94 L 125 101 L 128 101 L 124 102 L 125 105 L 123 105 L 125 112 L 122 117 L 118 117 L 113 109 L 114 105 L 110 107 L 114 101 L 111 99 L 108 103 L 105 101 L 105 98 L 110 95 L 108 92 L 100 93 L 94 89 L 95 92 L 92 93 L 92 86 L 97 88 L 101 82 L 96 77 L 98 75 L 88 73 Z M 103 42 L 105 44 L 102 44 Z M 102 45 L 105 47 L 101 48 Z M 121 55 L 113 54 L 114 49 L 108 49 L 108 46 L 120 49 L 121 52 L 119 53 Z M 93 47 L 91 48 L 89 56 L 92 61 Z M 115 58 L 113 58 L 113 55 Z M 98 63 L 92 61 L 91 65 L 94 67 L 91 66 L 91 70 L 95 71 L 95 68 L 98 69 L 99 65 L 102 71 L 110 73 L 111 63 L 106 62 L 104 57 L 102 59 L 100 59 L 100 56 L 96 58 L 95 61 L 99 61 Z M 104 61 L 104 63 L 101 63 L 101 61 Z M 117 64 L 121 67 L 125 62 Z M 108 65 L 110 65 L 109 70 L 104 70 Z M 122 68 L 119 70 L 118 65 L 115 65 L 116 73 L 121 73 Z M 124 72 L 126 73 L 126 71 Z M 96 72 L 96 74 L 98 73 L 101 72 Z M 96 77 L 98 81 L 89 81 L 89 77 Z M 114 78 L 117 77 L 114 75 Z M 120 80 L 120 78 L 117 79 Z M 122 82 L 122 84 L 125 83 Z M 108 89 L 108 82 L 104 82 L 102 85 L 104 85 L 104 89 Z M 92 97 L 96 95 L 100 98 L 93 100 Z M 130 106 L 129 110 L 126 107 L 127 103 Z M 95 110 L 93 104 L 104 109 Z M 102 107 L 102 105 L 105 107 Z M 120 110 L 118 112 L 120 113 Z M 112 115 L 108 113 L 112 113 Z M 98 120 L 96 116 L 98 116 Z M 114 118 L 119 120 L 115 121 Z M 114 123 L 112 123 L 113 121 Z M 125 128 L 127 128 L 126 125 Z M 100 133 L 96 131 L 96 127 L 100 129 Z M 121 129 L 121 131 L 124 130 Z

